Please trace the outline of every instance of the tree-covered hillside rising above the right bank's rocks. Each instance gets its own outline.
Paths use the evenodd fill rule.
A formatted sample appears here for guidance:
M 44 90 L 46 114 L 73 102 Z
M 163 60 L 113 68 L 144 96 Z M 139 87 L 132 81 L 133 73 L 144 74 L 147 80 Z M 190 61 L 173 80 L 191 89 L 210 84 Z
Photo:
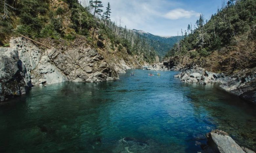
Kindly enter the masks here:
M 167 56 L 177 64 L 198 62 L 215 71 L 255 67 L 255 14 L 255 0 L 230 0 L 209 21 L 200 15 Z

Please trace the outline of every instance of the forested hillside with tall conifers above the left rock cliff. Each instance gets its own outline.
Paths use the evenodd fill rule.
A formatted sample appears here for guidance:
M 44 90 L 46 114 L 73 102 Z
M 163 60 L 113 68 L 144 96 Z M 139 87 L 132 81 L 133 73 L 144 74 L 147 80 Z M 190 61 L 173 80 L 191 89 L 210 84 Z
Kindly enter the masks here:
M 1 0 L 0 46 L 9 46 L 20 34 L 34 40 L 65 40 L 77 37 L 95 48 L 138 55 L 153 62 L 156 52 L 147 42 L 110 21 L 111 5 L 101 1 L 80 4 L 78 0 Z M 104 11 L 105 10 L 105 11 Z M 139 58 L 142 59 L 139 59 Z

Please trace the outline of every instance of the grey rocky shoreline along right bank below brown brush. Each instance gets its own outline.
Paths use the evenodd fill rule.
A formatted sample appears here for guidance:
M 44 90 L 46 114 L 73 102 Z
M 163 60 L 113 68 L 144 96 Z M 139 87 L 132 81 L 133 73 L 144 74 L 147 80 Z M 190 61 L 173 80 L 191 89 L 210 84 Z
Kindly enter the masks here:
M 169 70 L 182 71 L 174 77 L 180 78 L 183 82 L 200 84 L 220 82 L 220 87 L 223 90 L 256 104 L 256 68 L 244 70 L 231 76 L 208 72 L 198 65 L 187 68 L 173 66 Z

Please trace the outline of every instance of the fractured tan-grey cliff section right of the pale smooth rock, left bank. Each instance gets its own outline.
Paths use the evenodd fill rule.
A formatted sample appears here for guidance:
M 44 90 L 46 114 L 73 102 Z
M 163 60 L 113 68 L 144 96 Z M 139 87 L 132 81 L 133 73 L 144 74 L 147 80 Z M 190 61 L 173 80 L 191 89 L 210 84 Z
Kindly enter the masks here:
M 108 80 L 108 77 L 118 77 L 113 73 L 115 70 L 92 48 L 53 48 L 48 50 L 48 57 L 70 81 L 100 82 Z

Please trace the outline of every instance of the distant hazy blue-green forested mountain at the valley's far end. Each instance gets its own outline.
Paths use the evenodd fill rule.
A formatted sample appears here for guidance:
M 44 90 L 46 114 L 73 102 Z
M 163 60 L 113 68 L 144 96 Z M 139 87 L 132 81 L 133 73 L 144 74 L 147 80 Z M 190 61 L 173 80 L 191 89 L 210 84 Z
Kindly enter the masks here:
M 150 46 L 152 46 L 160 59 L 162 59 L 168 51 L 170 51 L 174 44 L 178 41 L 177 36 L 174 37 L 161 37 L 156 36 L 151 33 L 145 32 L 143 30 L 133 29 L 133 32 L 139 34 L 141 37 L 146 39 Z M 182 36 L 178 36 L 179 40 L 183 39 Z

